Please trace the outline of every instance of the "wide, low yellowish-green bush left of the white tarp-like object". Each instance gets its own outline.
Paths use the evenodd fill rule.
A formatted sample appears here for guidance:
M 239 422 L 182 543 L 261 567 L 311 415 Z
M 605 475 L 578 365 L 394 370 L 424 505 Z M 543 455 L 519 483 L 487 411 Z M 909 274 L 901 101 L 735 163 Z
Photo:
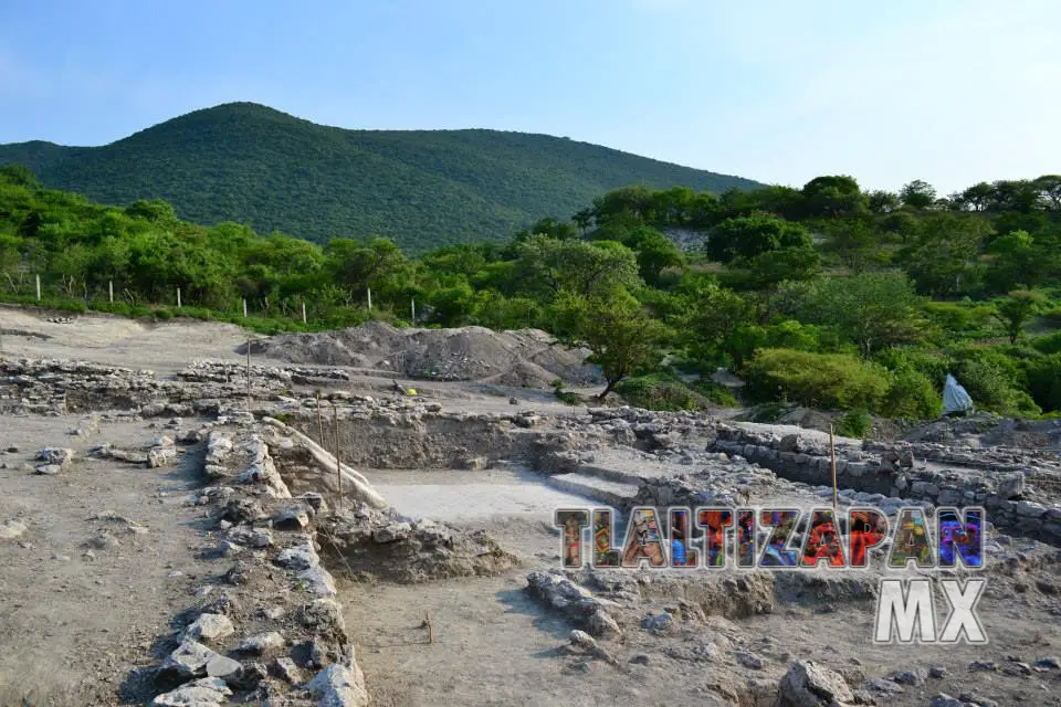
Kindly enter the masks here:
M 748 392 L 809 408 L 878 410 L 890 389 L 887 371 L 840 354 L 760 349 L 748 367 Z

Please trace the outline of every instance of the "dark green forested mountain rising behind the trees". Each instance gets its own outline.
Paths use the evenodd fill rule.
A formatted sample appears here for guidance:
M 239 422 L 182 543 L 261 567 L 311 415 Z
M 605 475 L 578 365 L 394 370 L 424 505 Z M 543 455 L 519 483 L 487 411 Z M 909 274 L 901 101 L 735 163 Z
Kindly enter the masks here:
M 628 184 L 761 186 L 547 135 L 346 130 L 253 103 L 189 113 L 103 147 L 0 145 L 0 165 L 11 162 L 98 201 L 160 198 L 199 223 L 318 241 L 378 234 L 413 252 L 508 239 Z

